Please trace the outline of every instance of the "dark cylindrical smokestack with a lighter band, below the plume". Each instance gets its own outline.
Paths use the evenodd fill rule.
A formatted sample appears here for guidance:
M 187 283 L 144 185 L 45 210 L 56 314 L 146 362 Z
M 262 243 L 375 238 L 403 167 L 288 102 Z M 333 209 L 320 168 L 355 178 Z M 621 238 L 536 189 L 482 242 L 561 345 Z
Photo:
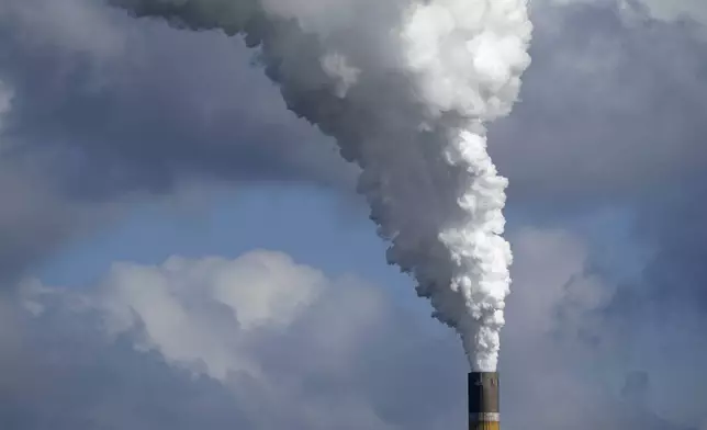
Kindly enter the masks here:
M 498 430 L 498 372 L 469 373 L 469 430 Z

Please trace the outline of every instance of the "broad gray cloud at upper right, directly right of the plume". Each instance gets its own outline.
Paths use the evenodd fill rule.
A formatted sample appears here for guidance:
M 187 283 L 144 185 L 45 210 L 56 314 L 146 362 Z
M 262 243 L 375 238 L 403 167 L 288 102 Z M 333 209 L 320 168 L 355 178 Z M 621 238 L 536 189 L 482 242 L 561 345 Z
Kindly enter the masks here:
M 699 172 L 707 44 L 616 1 L 535 3 L 521 102 L 493 127 L 510 202 L 624 203 Z

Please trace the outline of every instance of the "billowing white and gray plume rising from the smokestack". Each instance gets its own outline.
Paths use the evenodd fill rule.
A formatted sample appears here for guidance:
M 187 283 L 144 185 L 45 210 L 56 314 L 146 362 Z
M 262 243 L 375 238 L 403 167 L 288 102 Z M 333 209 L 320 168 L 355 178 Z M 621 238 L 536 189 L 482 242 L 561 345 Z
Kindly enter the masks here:
M 512 253 L 507 181 L 484 123 L 530 63 L 527 0 L 110 0 L 137 16 L 240 34 L 288 108 L 358 163 L 390 263 L 495 370 Z

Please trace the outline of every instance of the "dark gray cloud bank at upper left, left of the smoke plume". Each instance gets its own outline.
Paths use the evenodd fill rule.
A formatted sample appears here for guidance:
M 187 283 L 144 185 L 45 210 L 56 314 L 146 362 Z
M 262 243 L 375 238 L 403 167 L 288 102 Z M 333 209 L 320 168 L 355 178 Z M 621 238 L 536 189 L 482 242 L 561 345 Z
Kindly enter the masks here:
M 14 94 L 4 139 L 63 156 L 57 169 L 74 188 L 164 190 L 179 176 L 337 180 L 326 139 L 283 109 L 239 39 L 100 2 L 3 2 L 0 76 Z

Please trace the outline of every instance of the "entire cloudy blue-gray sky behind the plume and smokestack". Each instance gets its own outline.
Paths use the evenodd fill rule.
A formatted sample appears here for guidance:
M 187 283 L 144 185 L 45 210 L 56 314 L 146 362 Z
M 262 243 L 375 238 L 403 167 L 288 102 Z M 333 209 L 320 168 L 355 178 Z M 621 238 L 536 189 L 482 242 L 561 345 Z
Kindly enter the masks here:
M 503 426 L 705 430 L 707 8 L 530 10 Z M 464 428 L 358 172 L 237 36 L 0 0 L 0 428 Z

